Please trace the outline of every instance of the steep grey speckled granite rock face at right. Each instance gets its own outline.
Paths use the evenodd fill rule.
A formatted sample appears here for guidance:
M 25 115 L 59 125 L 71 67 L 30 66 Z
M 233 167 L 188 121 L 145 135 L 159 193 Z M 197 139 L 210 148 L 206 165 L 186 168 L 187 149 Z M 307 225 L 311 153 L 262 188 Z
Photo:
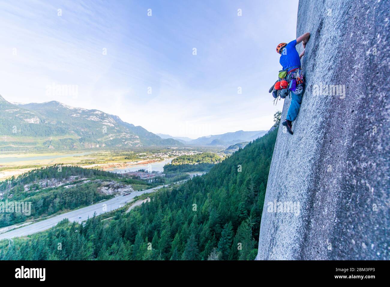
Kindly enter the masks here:
M 306 89 L 294 135 L 279 127 L 257 260 L 390 259 L 388 4 L 299 2 Z

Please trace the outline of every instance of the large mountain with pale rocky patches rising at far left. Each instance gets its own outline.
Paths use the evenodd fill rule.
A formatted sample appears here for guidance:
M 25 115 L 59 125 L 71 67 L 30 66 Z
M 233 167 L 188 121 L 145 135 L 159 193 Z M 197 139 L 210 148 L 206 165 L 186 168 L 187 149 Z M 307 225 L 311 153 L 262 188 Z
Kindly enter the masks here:
M 0 150 L 182 146 L 99 110 L 57 101 L 13 104 L 0 96 Z

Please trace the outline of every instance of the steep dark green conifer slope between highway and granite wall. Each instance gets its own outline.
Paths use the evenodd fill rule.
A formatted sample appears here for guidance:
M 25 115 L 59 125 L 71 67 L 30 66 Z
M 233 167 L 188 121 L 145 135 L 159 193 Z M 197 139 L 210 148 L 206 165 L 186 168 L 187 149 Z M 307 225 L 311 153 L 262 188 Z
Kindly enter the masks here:
M 277 129 L 128 214 L 65 222 L 14 239 L 11 247 L 3 241 L 0 259 L 253 260 L 276 135 Z

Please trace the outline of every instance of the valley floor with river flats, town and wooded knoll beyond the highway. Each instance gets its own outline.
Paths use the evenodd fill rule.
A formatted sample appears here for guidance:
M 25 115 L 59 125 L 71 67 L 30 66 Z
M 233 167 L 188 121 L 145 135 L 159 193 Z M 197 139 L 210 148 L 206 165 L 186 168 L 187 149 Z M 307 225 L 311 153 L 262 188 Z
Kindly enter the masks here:
M 37 162 L 35 167 L 30 165 L 29 168 L 7 169 L 3 166 L 3 175 L 10 170 L 14 175 L 5 176 L 0 182 L 0 199 L 13 202 L 15 206 L 18 202 L 28 202 L 32 207 L 28 214 L 0 213 L 2 233 L 97 201 L 185 181 L 206 173 L 218 162 L 216 159 L 223 158 L 193 149 L 159 149 L 147 152 L 13 154 L 12 157 L 3 154 L 0 159 L 3 165 Z M 201 163 L 199 159 L 202 159 Z M 176 160 L 174 165 L 172 160 Z M 185 170 L 183 166 L 186 166 Z

